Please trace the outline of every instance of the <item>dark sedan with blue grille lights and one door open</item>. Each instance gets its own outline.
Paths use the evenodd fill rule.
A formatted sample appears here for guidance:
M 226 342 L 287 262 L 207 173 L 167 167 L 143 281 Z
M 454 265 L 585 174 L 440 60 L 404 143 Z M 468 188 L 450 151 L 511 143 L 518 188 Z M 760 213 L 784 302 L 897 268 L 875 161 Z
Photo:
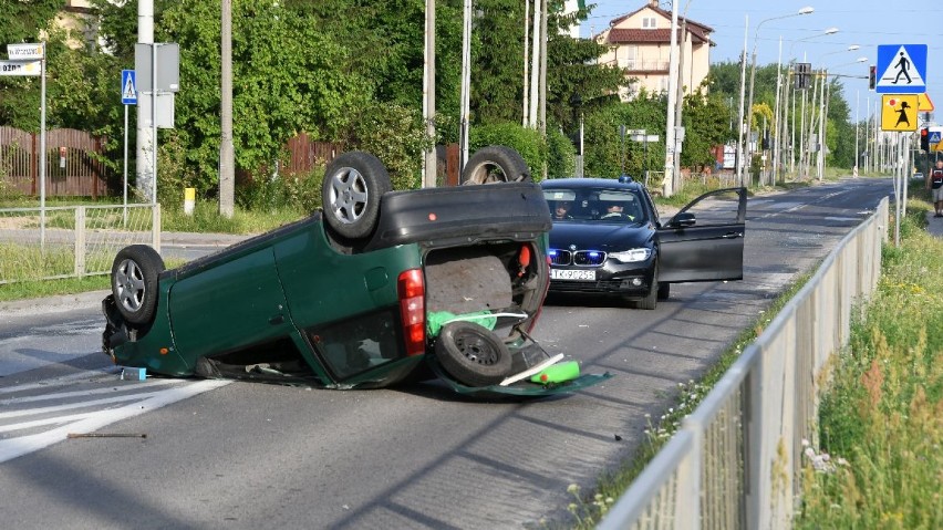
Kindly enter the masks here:
M 704 194 L 662 222 L 631 178 L 541 186 L 553 217 L 550 292 L 611 293 L 655 309 L 672 283 L 743 279 L 746 188 Z

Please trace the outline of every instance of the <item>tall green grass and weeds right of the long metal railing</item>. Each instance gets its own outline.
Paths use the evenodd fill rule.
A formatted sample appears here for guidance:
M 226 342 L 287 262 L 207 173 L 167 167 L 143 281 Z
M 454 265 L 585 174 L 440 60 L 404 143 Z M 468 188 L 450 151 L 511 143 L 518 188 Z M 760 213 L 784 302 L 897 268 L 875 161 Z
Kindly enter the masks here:
M 929 208 L 909 204 L 838 357 L 809 448 L 830 465 L 806 466 L 798 529 L 943 528 L 943 242 L 922 230 Z

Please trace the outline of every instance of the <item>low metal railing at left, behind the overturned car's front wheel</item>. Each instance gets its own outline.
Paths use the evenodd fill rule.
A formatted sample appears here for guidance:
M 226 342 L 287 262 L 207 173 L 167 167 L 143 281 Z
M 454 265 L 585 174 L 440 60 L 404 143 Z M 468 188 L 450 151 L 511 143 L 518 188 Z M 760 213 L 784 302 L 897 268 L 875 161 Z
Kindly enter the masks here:
M 160 205 L 0 209 L 0 284 L 111 273 L 128 245 L 160 251 Z

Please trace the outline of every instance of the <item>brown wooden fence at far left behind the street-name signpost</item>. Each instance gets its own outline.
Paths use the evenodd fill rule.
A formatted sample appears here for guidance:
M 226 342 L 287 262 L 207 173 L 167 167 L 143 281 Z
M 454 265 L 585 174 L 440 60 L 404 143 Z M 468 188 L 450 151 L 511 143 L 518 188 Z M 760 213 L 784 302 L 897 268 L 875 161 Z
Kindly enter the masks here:
M 102 144 L 101 137 L 73 128 L 46 132 L 45 195 L 107 195 L 108 170 L 99 162 Z M 39 195 L 39 134 L 0 126 L 0 179 L 15 191 Z

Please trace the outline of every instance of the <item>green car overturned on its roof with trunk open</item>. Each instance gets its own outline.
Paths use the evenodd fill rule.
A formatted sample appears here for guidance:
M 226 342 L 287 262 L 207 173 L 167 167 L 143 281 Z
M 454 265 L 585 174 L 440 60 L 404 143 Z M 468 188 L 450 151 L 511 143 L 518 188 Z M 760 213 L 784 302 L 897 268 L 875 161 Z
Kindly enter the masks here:
M 438 377 L 479 397 L 572 392 L 529 335 L 549 285 L 550 212 L 519 155 L 480 149 L 470 181 L 391 191 L 379 159 L 328 167 L 324 208 L 164 270 L 131 246 L 103 302 L 103 350 L 167 376 L 372 388 Z

